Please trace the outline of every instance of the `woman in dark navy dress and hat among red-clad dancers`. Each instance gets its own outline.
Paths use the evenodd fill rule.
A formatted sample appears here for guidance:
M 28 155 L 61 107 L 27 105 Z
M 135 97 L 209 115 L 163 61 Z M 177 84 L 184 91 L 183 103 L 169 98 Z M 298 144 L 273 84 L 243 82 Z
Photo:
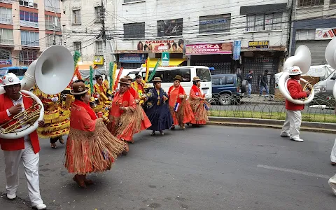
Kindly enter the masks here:
M 169 129 L 173 125 L 172 114 L 169 111 L 168 95 L 161 88 L 162 80 L 160 77 L 153 79 L 154 87 L 146 94 L 145 110 L 152 126 L 148 130 L 152 130 L 151 136 L 155 135 L 155 131 L 159 131 L 163 135 L 163 131 Z

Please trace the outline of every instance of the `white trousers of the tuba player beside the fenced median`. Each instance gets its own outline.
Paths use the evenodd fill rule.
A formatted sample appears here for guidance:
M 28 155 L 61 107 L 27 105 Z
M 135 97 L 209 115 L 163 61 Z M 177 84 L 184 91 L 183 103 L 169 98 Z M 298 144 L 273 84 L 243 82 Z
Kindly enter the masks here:
M 300 138 L 301 111 L 286 110 L 286 120 L 281 134 L 290 134 L 290 139 Z

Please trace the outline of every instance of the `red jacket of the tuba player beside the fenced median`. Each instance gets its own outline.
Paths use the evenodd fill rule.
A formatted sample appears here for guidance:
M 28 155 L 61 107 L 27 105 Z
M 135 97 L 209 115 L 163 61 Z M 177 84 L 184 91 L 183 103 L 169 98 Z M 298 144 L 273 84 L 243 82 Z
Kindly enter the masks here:
M 307 93 L 302 90 L 302 86 L 300 82 L 297 80 L 290 78 L 287 82 L 287 88 L 290 96 L 293 99 L 302 99 L 307 97 Z M 304 105 L 294 104 L 286 99 L 286 109 L 291 111 L 303 110 Z

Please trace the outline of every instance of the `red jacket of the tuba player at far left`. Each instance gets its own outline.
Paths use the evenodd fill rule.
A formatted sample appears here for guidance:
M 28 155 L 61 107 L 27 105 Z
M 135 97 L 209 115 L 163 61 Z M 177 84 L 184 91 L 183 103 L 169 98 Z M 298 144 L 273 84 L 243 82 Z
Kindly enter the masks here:
M 23 104 L 25 109 L 28 109 L 32 104 L 33 100 L 23 96 Z M 8 117 L 7 109 L 14 106 L 12 100 L 7 97 L 5 94 L 0 94 L 0 125 L 8 122 L 13 118 L 13 116 Z M 14 124 L 15 120 L 10 123 L 10 125 Z M 31 146 L 33 147 L 34 153 L 38 153 L 40 151 L 40 144 L 38 142 L 37 132 L 34 131 L 29 134 Z M 23 138 L 20 139 L 1 139 L 0 145 L 3 151 L 18 151 L 25 148 L 25 141 Z

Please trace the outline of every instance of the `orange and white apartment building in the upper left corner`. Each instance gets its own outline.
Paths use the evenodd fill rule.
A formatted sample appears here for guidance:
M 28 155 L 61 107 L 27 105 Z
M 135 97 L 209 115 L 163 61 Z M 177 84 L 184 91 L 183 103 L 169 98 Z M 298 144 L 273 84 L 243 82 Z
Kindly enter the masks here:
M 61 8 L 59 0 L 0 0 L 0 67 L 28 66 L 60 44 Z

